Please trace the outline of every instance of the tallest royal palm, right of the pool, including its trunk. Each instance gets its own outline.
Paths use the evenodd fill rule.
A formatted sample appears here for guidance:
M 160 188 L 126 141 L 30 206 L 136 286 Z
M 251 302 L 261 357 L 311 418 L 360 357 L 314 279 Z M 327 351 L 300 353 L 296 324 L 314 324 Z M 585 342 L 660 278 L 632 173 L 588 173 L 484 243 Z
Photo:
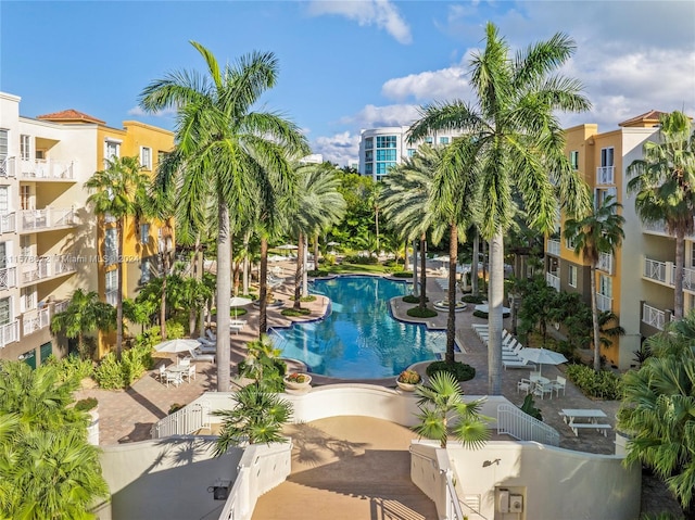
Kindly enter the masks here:
M 473 145 L 460 149 L 460 164 L 472 164 L 480 177 L 475 200 L 483 200 L 479 228 L 490 241 L 489 393 L 502 392 L 502 305 L 504 233 L 514 217 L 518 191 L 542 231 L 553 228 L 557 198 L 570 215 L 589 205 L 589 193 L 565 156 L 565 138 L 555 111 L 590 107 L 578 81 L 552 75 L 574 51 L 563 34 L 529 46 L 515 58 L 493 24 L 486 26 L 485 49 L 473 54 L 470 85 L 476 104 L 460 100 L 422 109 L 410 139 L 456 128 L 470 134 Z

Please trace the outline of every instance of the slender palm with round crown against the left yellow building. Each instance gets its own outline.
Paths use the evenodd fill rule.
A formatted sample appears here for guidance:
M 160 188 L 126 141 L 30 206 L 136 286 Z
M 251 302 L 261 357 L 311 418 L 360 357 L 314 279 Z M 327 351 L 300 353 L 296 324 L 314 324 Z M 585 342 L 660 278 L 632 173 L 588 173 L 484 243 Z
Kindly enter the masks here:
M 116 357 L 121 357 L 123 348 L 123 243 L 124 230 L 128 217 L 142 214 L 147 199 L 149 178 L 142 173 L 138 157 L 106 158 L 106 169 L 94 173 L 87 182 L 91 194 L 87 203 L 93 205 L 94 213 L 101 217 L 111 216 L 116 220 L 115 258 L 106 258 L 116 264 Z M 106 252 L 110 253 L 110 252 Z M 104 255 L 105 256 L 105 255 Z

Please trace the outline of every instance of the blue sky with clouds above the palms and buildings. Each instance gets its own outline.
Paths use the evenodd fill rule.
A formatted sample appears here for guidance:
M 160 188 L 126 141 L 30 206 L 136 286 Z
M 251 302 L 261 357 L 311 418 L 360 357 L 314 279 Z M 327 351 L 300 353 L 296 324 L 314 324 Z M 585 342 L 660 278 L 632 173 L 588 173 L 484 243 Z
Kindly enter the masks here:
M 75 109 L 119 127 L 143 114 L 140 91 L 173 71 L 203 71 L 189 43 L 220 62 L 274 52 L 277 86 L 266 109 L 305 132 L 314 153 L 348 164 L 359 130 L 409 125 L 418 106 L 470 99 L 468 61 L 488 21 L 513 49 L 556 31 L 577 53 L 591 113 L 567 126 L 610 130 L 652 109 L 695 115 L 695 2 L 683 1 L 8 1 L 0 2 L 0 90 L 21 114 Z

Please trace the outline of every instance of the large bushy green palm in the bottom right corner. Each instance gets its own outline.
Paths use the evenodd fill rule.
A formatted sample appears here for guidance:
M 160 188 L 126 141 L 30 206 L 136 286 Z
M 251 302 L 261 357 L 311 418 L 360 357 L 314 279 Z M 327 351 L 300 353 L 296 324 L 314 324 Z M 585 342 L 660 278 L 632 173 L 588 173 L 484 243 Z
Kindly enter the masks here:
M 621 382 L 618 427 L 631 434 L 627 465 L 654 470 L 695 518 L 695 314 L 647 339 L 653 356 Z

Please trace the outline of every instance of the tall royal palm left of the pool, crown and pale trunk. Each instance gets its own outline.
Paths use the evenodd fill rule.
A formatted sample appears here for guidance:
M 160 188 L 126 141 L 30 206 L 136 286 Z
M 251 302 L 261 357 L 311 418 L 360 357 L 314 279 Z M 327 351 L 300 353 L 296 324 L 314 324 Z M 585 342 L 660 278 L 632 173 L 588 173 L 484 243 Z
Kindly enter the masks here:
M 206 74 L 181 72 L 156 79 L 140 94 L 140 105 L 148 112 L 177 111 L 174 164 L 179 167 L 157 173 L 157 182 L 176 183 L 178 204 L 191 208 L 190 215 L 197 215 L 194 207 L 203 205 L 211 190 L 217 203 L 217 389 L 227 392 L 231 224 L 252 212 L 258 202 L 253 195 L 268 200 L 276 195 L 274 185 L 289 189 L 286 153 L 305 153 L 308 147 L 293 123 L 253 110 L 276 84 L 273 53 L 253 52 L 220 68 L 207 49 L 191 45 L 205 61 Z

